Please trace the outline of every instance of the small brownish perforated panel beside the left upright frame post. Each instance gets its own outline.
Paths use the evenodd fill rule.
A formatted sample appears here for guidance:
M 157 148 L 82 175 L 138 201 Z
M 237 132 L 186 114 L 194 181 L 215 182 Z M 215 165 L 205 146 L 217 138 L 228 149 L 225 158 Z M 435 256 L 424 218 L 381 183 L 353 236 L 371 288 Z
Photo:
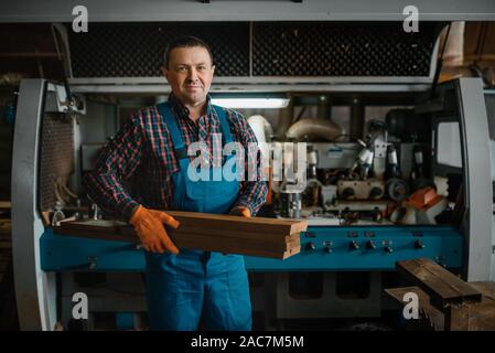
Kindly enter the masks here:
M 53 210 L 55 182 L 66 182 L 74 169 L 73 119 L 64 115 L 45 114 L 41 136 L 40 210 Z

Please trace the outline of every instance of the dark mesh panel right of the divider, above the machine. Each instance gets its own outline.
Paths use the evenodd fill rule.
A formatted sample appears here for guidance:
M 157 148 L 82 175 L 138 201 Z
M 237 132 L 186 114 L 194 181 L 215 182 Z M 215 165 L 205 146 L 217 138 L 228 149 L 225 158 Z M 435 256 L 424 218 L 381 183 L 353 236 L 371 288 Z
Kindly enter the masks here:
M 255 23 L 255 76 L 429 76 L 440 28 L 421 23 Z

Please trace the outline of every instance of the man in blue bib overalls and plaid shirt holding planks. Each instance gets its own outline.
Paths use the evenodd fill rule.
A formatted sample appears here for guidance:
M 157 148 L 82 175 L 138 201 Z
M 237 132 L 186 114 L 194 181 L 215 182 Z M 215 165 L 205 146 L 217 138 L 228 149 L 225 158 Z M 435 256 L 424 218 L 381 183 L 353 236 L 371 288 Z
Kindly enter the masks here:
M 187 174 L 196 158 L 186 152 L 193 142 L 206 146 L 212 170 L 218 162 L 215 156 L 220 164 L 224 160 L 215 148 L 238 141 L 248 151 L 248 143 L 256 142 L 239 113 L 211 104 L 214 71 L 212 52 L 202 40 L 186 36 L 170 43 L 162 67 L 172 88 L 169 101 L 140 109 L 84 178 L 88 195 L 104 211 L 129 220 L 146 248 L 152 330 L 196 330 L 200 321 L 207 330 L 251 329 L 244 257 L 177 249 L 164 227 L 180 226 L 166 210 L 249 217 L 266 200 L 260 178 L 193 181 Z M 223 137 L 219 146 L 213 139 L 216 133 Z M 259 153 L 245 158 L 246 171 L 259 164 Z M 130 192 L 125 185 L 136 178 L 141 183 Z

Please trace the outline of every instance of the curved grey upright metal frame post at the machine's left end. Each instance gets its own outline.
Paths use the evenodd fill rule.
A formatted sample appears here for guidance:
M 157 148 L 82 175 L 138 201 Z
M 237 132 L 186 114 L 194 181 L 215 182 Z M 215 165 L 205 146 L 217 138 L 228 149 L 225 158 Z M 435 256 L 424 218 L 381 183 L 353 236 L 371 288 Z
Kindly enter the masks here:
M 37 213 L 40 131 L 47 82 L 21 83 L 12 152 L 12 255 L 15 299 L 22 330 L 53 330 L 55 274 L 41 269 Z

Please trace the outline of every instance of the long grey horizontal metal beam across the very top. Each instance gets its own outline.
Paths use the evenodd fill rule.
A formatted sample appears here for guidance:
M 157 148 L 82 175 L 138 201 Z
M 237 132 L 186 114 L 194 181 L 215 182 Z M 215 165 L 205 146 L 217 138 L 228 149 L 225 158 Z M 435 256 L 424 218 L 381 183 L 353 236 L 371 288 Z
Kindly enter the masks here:
M 132 1 L 86 0 L 90 22 L 137 21 L 402 21 L 409 1 Z M 493 21 L 492 0 L 416 0 L 421 21 Z M 117 10 L 117 11 L 116 11 Z M 72 6 L 62 1 L 18 0 L 2 4 L 0 22 L 72 22 Z M 90 31 L 90 23 L 89 23 Z

